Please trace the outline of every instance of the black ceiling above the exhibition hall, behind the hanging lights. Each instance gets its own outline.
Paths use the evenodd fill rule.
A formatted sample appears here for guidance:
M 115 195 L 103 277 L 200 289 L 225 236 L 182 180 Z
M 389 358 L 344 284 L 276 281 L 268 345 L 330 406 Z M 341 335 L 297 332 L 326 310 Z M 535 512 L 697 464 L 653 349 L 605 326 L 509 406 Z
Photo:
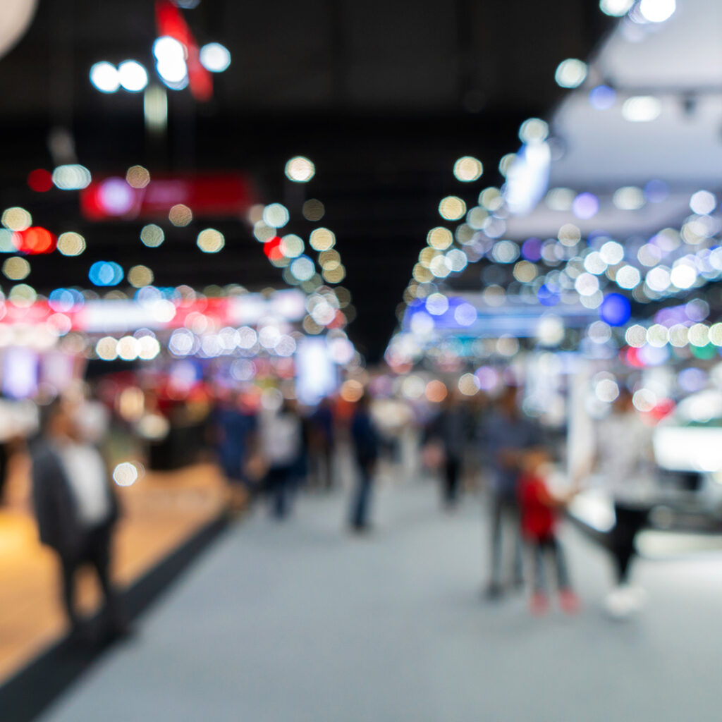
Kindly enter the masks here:
M 34 259 L 28 282 L 45 291 L 87 285 L 88 266 L 104 258 L 147 264 L 162 285 L 282 285 L 238 222 L 214 224 L 227 241 L 216 256 L 196 248 L 193 225 L 149 249 L 138 222 L 90 225 L 74 193 L 29 191 L 28 171 L 52 167 L 53 127 L 71 131 L 77 159 L 93 173 L 135 163 L 151 172 L 242 170 L 264 201 L 287 203 L 300 235 L 310 226 L 283 168 L 308 155 L 317 172 L 303 193 L 326 206 L 323 224 L 336 233 L 357 308 L 349 335 L 370 360 L 393 331 L 440 198 L 471 201 L 500 180 L 495 166 L 518 146 L 521 121 L 559 97 L 557 64 L 588 56 L 609 20 L 596 0 L 201 0 L 183 13 L 200 43 L 230 49 L 232 64 L 214 78 L 209 103 L 170 92 L 160 141 L 144 131 L 141 95 L 103 95 L 88 80 L 100 60 L 152 67 L 150 0 L 40 0 L 25 38 L 0 58 L 0 203 L 26 206 L 56 232 L 81 230 L 88 242 L 79 258 Z M 467 154 L 487 169 L 478 183 L 451 173 Z

